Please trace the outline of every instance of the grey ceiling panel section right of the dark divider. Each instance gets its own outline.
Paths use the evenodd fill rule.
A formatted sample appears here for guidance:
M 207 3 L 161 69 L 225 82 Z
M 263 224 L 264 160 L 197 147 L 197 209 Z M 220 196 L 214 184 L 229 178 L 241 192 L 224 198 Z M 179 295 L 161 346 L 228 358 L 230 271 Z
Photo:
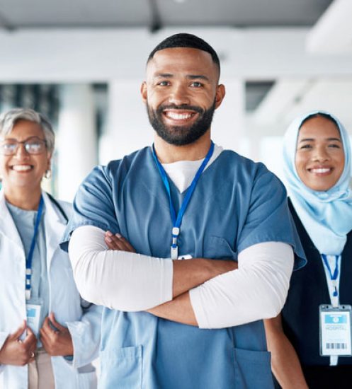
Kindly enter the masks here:
M 331 0 L 157 0 L 165 25 L 310 26 Z

